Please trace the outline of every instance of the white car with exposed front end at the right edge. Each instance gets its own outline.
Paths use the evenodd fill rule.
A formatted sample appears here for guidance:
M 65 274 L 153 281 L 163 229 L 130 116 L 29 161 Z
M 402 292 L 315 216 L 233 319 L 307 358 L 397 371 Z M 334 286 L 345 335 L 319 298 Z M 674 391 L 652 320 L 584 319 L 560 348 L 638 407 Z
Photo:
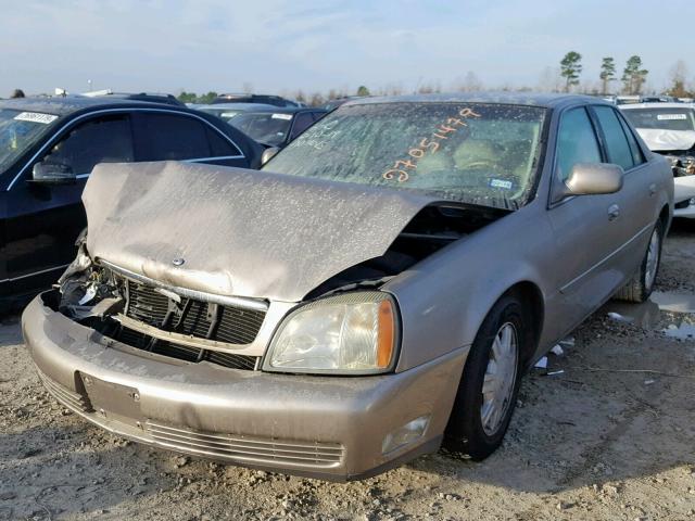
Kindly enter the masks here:
M 673 217 L 695 218 L 695 104 L 640 103 L 620 106 L 649 150 L 673 170 Z

